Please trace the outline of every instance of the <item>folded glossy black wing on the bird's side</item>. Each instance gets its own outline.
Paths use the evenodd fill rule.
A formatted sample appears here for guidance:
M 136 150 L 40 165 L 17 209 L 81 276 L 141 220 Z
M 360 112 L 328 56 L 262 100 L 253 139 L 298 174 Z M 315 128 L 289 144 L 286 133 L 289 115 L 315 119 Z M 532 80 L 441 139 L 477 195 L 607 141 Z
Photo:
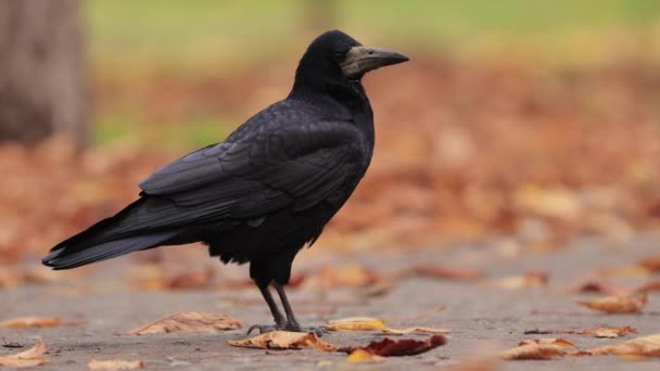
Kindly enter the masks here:
M 174 162 L 140 188 L 194 210 L 196 221 L 303 210 L 342 186 L 367 150 L 351 121 L 269 125 L 239 137 Z

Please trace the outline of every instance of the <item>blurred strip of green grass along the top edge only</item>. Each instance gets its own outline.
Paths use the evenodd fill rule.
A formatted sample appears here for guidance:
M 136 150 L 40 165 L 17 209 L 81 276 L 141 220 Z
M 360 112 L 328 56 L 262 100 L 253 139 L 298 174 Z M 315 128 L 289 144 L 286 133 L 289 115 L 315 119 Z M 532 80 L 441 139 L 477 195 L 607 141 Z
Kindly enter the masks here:
M 299 50 L 320 29 L 304 28 L 304 0 L 91 0 L 96 60 L 157 61 L 185 67 L 261 62 Z M 338 1 L 331 24 L 369 41 L 439 47 L 564 38 L 573 31 L 647 29 L 660 22 L 657 0 Z M 314 27 L 312 27 L 314 28 Z M 525 41 L 526 42 L 526 41 Z M 534 43 L 533 40 L 531 43 Z M 145 62 L 147 63 L 147 62 Z

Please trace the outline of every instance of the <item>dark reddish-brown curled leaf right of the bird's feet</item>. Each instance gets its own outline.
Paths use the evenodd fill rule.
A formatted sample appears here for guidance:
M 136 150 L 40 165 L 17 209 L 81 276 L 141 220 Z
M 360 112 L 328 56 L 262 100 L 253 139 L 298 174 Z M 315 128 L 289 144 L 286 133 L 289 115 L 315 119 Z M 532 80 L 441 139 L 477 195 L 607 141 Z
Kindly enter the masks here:
M 445 345 L 447 338 L 444 335 L 433 335 L 426 341 L 418 341 L 411 338 L 391 340 L 383 338 L 380 342 L 372 342 L 365 347 L 343 347 L 339 351 L 353 354 L 357 349 L 366 350 L 372 355 L 382 357 L 401 357 L 401 356 L 414 356 L 424 351 L 429 351 L 441 345 Z

